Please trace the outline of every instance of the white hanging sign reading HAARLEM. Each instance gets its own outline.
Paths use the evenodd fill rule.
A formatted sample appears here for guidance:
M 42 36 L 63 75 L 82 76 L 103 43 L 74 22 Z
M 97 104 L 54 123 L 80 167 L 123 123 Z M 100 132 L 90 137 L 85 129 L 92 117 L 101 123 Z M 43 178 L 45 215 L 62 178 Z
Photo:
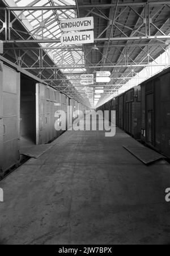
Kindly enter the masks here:
M 65 45 L 94 43 L 94 31 L 66 33 L 61 35 L 60 40 Z

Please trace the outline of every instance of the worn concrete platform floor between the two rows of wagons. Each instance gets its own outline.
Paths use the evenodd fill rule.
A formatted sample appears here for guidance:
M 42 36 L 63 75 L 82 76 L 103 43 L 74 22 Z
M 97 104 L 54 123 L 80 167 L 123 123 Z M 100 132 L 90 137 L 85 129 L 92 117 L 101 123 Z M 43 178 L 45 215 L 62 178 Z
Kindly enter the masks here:
M 117 129 L 66 131 L 0 182 L 1 244 L 170 244 L 169 164 L 145 166 Z

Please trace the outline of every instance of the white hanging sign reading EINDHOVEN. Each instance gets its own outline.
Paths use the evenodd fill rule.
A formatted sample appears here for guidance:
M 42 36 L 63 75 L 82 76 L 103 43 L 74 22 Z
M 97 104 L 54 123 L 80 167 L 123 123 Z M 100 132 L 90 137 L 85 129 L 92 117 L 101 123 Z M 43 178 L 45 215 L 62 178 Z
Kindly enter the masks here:
M 75 31 L 75 30 L 92 30 L 94 29 L 94 17 L 86 17 L 79 19 L 65 19 L 61 22 L 61 30 Z

